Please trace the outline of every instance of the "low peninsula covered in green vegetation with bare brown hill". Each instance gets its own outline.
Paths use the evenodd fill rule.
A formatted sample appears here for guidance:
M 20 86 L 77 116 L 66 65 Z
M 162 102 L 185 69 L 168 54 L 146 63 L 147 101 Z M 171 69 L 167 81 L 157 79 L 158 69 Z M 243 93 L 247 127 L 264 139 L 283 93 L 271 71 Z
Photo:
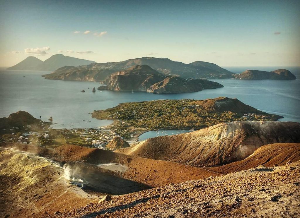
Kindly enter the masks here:
M 234 110 L 230 111 L 228 108 Z M 280 118 L 256 110 L 237 99 L 228 98 L 122 103 L 114 108 L 94 111 L 92 116 L 97 119 L 119 120 L 136 128 L 147 129 L 199 129 L 220 122 L 275 121 Z

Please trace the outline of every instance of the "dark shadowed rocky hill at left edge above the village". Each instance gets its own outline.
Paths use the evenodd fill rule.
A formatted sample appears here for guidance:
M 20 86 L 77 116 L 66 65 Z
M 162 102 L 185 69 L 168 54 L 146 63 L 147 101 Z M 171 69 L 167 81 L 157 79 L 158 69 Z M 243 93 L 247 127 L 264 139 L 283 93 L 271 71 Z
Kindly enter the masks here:
M 43 121 L 34 118 L 30 113 L 26 111 L 19 110 L 16 113 L 10 114 L 9 117 L 0 118 L 0 129 L 21 127 L 38 123 L 43 123 Z

